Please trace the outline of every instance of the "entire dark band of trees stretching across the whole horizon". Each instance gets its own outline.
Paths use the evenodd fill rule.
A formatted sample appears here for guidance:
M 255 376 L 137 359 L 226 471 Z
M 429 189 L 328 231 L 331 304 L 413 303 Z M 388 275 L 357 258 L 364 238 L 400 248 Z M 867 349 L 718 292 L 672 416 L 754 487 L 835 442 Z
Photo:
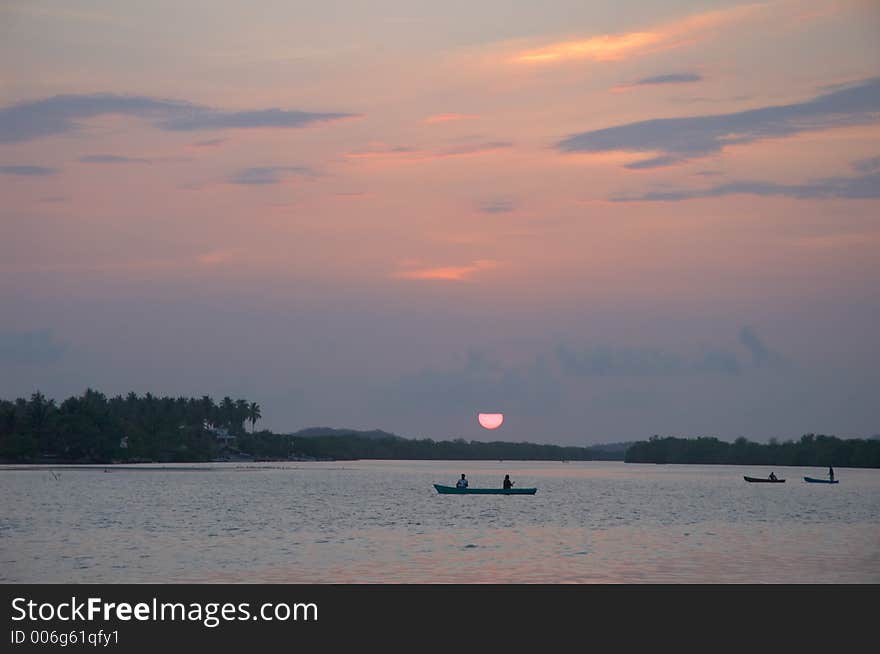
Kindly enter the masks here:
M 709 463 L 880 468 L 880 440 L 806 434 L 768 444 L 738 438 L 653 436 L 613 446 L 406 439 L 386 432 L 314 428 L 295 434 L 256 430 L 260 405 L 224 397 L 107 397 L 87 389 L 60 404 L 40 392 L 0 399 L 3 462 L 198 462 L 230 457 L 262 460 L 531 460 Z M 250 426 L 248 431 L 247 426 Z

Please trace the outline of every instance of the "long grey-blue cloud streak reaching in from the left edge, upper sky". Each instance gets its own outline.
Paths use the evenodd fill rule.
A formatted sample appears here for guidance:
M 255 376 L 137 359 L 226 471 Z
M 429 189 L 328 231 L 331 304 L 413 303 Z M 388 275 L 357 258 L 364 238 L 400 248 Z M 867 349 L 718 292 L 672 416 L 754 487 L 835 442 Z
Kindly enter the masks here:
M 56 95 L 0 108 L 0 143 L 17 143 L 80 129 L 77 121 L 98 116 L 143 118 L 169 131 L 295 128 L 348 118 L 347 113 L 285 109 L 223 111 L 189 102 L 114 94 Z

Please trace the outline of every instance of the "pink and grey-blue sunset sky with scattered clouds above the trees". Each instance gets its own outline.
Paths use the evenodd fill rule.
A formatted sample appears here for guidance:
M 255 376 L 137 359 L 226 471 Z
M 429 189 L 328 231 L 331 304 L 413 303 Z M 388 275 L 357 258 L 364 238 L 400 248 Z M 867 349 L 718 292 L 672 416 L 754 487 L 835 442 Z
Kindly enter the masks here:
M 0 397 L 880 433 L 878 34 L 873 0 L 0 0 Z

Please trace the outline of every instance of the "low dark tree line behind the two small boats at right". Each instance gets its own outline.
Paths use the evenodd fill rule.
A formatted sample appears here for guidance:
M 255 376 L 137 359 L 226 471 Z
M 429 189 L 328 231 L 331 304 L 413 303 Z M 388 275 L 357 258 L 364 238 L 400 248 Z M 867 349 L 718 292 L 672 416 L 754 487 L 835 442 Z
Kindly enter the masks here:
M 733 443 L 712 437 L 652 436 L 629 446 L 627 463 L 717 463 L 727 465 L 840 466 L 880 468 L 880 440 L 841 439 L 804 434 L 799 441 L 755 443 L 737 438 Z

